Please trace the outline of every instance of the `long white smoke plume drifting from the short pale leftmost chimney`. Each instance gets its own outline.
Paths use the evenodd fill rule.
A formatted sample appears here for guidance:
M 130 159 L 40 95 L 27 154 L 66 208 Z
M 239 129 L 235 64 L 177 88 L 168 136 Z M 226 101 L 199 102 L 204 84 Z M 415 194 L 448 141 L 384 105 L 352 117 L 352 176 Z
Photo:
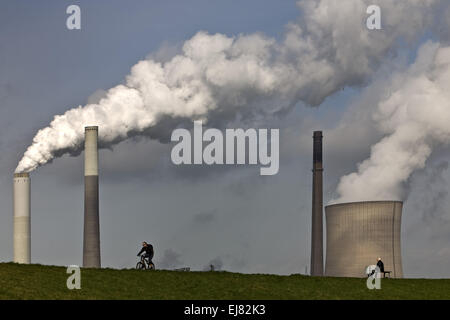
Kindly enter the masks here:
M 78 154 L 84 127 L 98 125 L 101 147 L 134 135 L 167 139 L 186 119 L 224 123 L 264 117 L 302 101 L 319 105 L 349 85 L 364 85 L 402 39 L 433 23 L 439 0 L 305 0 L 301 19 L 282 40 L 262 34 L 228 37 L 199 32 L 171 60 L 147 59 L 124 84 L 55 116 L 39 130 L 16 172 L 29 172 L 63 154 Z M 381 31 L 366 28 L 366 9 L 382 9 Z M 427 150 L 419 150 L 426 153 Z

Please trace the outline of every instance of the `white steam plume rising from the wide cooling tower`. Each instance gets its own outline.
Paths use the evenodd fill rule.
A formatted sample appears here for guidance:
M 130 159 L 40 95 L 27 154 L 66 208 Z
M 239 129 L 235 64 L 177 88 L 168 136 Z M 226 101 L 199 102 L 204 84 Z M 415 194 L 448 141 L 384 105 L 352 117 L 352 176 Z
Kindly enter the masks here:
M 416 62 L 387 85 L 374 120 L 384 138 L 358 171 L 341 178 L 332 202 L 404 200 L 404 183 L 436 146 L 450 143 L 450 47 L 424 44 Z

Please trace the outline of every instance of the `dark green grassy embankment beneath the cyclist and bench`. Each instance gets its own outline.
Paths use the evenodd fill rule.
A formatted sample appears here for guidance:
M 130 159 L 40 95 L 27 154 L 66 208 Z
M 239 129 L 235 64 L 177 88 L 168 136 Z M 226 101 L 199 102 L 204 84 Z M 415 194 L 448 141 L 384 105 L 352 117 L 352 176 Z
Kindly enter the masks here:
M 0 299 L 450 299 L 450 279 L 366 279 L 230 272 L 81 269 L 81 289 L 65 267 L 0 263 Z

